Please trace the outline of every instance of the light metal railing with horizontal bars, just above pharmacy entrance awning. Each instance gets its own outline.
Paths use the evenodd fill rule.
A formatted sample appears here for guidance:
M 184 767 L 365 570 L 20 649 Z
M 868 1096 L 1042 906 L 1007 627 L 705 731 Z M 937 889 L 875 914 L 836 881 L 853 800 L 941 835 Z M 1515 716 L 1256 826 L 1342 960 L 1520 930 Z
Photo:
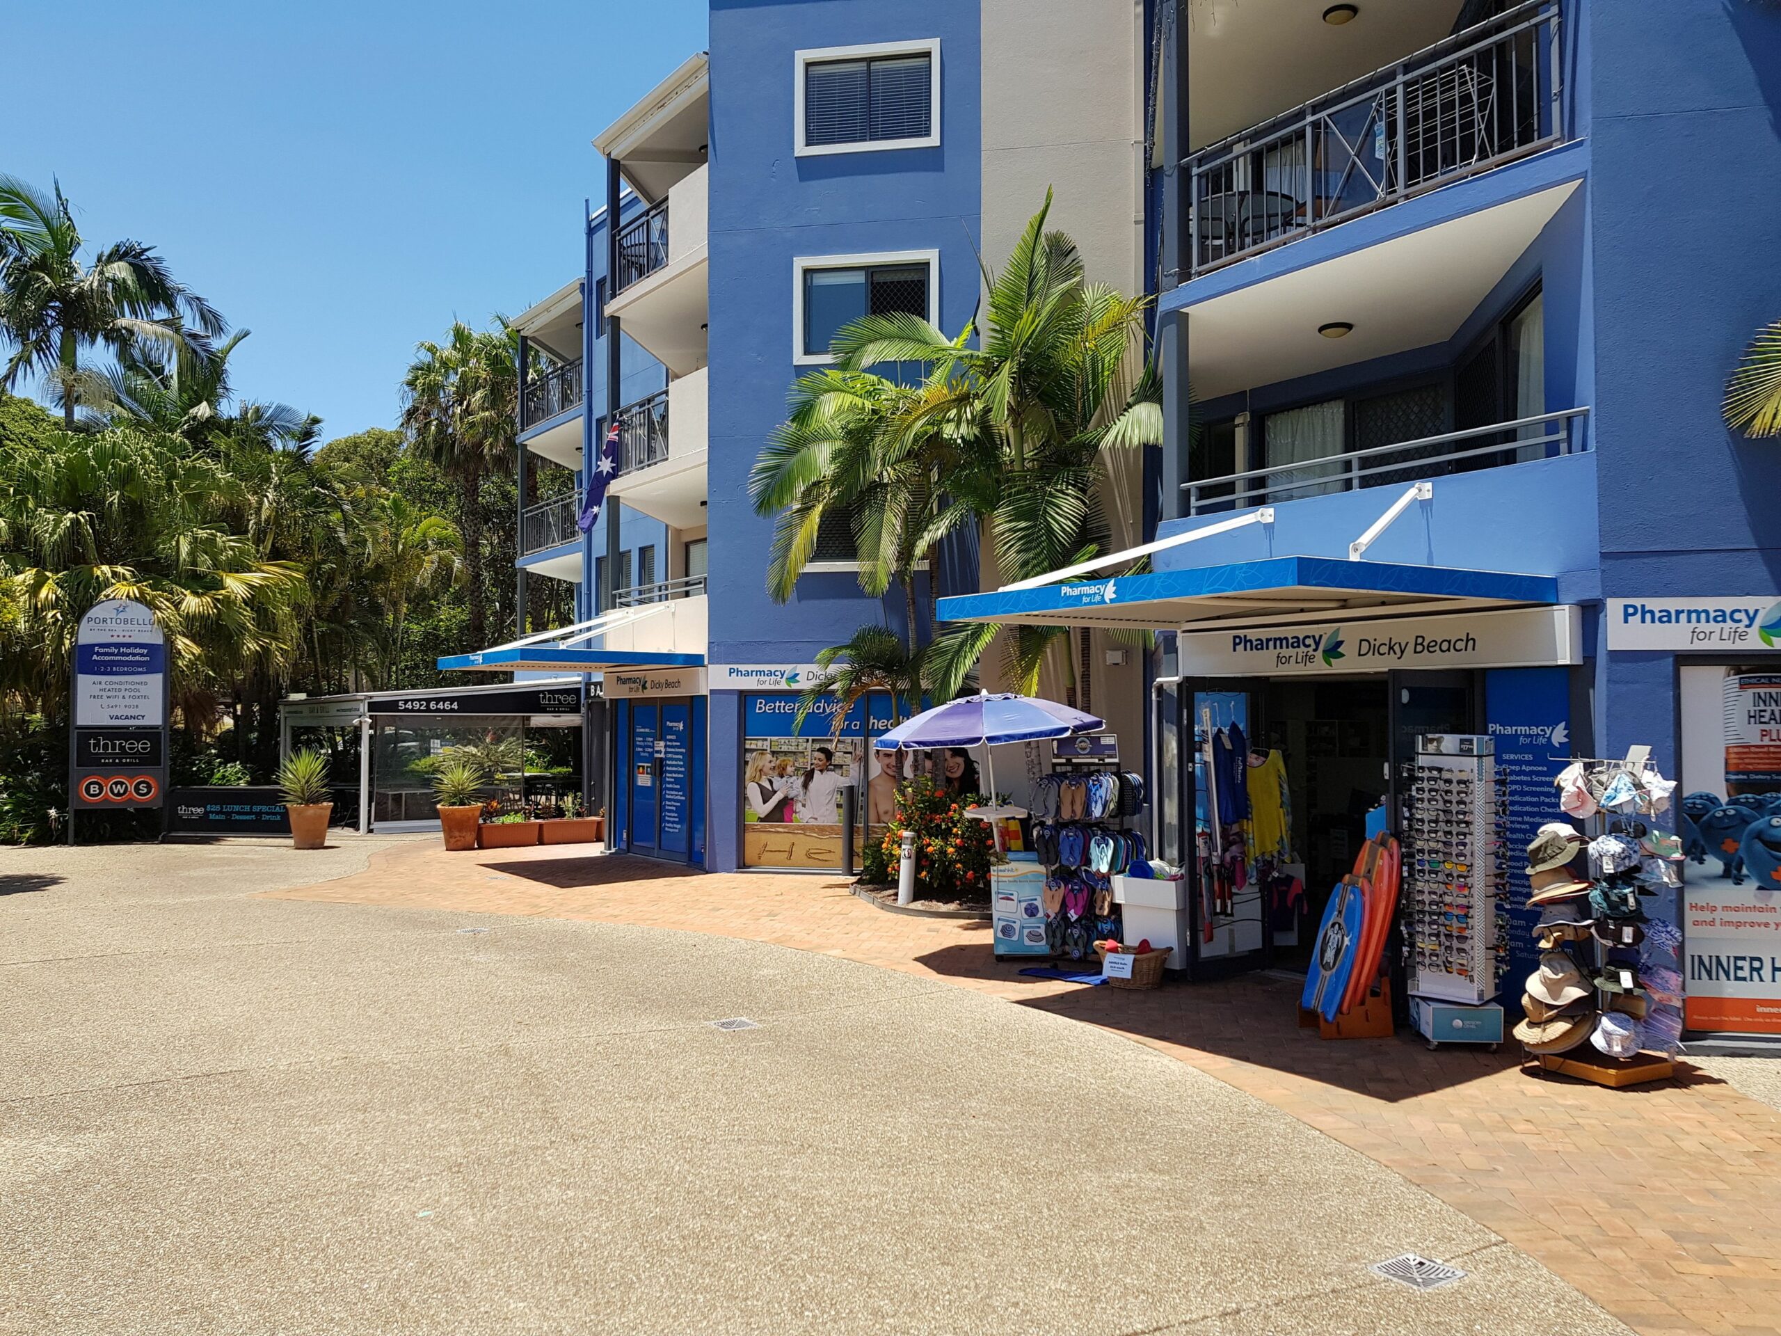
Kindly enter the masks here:
M 1181 490 L 1188 493 L 1188 515 L 1208 515 L 1329 492 L 1402 486 L 1425 477 L 1546 460 L 1555 454 L 1582 454 L 1589 449 L 1587 417 L 1587 408 L 1565 408 L 1487 428 L 1329 454 L 1322 460 L 1295 460 L 1241 474 L 1206 477 L 1183 483 Z

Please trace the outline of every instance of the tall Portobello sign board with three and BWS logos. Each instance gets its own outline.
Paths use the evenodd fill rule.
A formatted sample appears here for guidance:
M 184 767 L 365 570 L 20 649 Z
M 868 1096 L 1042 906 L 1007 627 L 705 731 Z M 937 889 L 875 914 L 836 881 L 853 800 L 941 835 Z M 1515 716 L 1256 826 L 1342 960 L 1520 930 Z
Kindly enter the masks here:
M 69 805 L 75 811 L 162 807 L 167 789 L 167 638 L 142 604 L 109 599 L 80 618 L 73 705 Z

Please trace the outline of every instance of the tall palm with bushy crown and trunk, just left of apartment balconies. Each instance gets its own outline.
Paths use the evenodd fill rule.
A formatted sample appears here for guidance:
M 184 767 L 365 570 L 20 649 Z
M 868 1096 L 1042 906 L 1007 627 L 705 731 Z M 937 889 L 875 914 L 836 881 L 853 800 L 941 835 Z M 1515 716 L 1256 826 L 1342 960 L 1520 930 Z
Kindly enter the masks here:
M 403 379 L 403 428 L 415 449 L 458 483 L 458 529 L 470 584 L 470 639 L 486 643 L 483 479 L 513 468 L 518 335 L 502 317 L 477 331 L 454 322 L 443 344 L 424 342 Z

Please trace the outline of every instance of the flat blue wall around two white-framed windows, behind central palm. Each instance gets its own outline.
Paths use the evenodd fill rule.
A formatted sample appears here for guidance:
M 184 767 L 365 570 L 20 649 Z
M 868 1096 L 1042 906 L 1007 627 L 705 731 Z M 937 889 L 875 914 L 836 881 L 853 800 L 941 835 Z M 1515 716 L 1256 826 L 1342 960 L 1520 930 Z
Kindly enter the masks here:
M 940 39 L 939 148 L 794 155 L 794 53 Z M 903 599 L 851 574 L 812 574 L 775 606 L 771 520 L 748 470 L 784 420 L 793 258 L 939 249 L 946 330 L 978 296 L 980 16 L 972 0 L 712 0 L 711 5 L 711 661 L 807 663 L 862 623 L 903 631 Z M 924 597 L 923 597 L 923 602 Z M 711 866 L 736 866 L 741 736 L 734 693 L 711 700 Z

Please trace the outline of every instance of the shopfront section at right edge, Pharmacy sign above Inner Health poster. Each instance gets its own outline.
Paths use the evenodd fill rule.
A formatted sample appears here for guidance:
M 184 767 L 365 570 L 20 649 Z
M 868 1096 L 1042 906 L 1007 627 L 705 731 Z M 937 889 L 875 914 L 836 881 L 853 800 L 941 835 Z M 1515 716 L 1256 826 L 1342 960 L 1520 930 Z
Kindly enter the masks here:
M 1781 597 L 1610 599 L 1606 645 L 1674 682 L 1687 1026 L 1781 1037 Z

